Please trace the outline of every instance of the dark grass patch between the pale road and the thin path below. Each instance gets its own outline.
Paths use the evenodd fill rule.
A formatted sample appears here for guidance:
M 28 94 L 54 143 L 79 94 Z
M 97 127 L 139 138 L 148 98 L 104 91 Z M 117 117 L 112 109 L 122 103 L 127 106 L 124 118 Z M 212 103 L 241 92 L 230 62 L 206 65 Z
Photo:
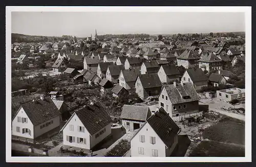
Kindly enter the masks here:
M 245 145 L 245 122 L 225 117 L 218 124 L 206 128 L 203 131 L 203 138 Z

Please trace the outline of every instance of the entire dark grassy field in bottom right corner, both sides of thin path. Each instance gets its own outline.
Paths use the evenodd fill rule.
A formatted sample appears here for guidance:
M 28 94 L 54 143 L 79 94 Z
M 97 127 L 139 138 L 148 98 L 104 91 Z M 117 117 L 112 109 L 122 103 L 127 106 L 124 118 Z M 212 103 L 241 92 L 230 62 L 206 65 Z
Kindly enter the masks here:
M 225 117 L 218 124 L 206 128 L 204 140 L 194 148 L 189 156 L 245 156 L 245 123 Z

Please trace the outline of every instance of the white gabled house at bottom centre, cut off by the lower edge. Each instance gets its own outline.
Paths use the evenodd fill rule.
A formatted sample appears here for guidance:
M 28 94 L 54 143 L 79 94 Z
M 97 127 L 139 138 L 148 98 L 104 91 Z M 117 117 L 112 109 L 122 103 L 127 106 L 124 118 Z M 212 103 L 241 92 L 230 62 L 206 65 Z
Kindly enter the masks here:
M 130 139 L 132 157 L 168 157 L 178 144 L 180 128 L 160 108 Z

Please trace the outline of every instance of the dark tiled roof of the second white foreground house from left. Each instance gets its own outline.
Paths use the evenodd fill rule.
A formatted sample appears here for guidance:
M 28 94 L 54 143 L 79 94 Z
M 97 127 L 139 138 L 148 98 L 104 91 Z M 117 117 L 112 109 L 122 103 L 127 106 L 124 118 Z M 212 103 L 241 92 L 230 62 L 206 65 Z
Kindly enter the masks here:
M 110 115 L 99 102 L 84 107 L 83 109 L 76 111 L 75 114 L 91 135 L 112 123 Z

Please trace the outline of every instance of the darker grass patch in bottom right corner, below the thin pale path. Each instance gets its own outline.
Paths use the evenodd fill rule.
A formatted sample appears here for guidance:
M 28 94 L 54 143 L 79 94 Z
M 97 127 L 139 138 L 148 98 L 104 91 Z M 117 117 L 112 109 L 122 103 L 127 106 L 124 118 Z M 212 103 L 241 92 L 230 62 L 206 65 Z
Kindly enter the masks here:
M 218 141 L 202 141 L 189 155 L 190 157 L 244 157 L 245 148 L 222 144 Z

